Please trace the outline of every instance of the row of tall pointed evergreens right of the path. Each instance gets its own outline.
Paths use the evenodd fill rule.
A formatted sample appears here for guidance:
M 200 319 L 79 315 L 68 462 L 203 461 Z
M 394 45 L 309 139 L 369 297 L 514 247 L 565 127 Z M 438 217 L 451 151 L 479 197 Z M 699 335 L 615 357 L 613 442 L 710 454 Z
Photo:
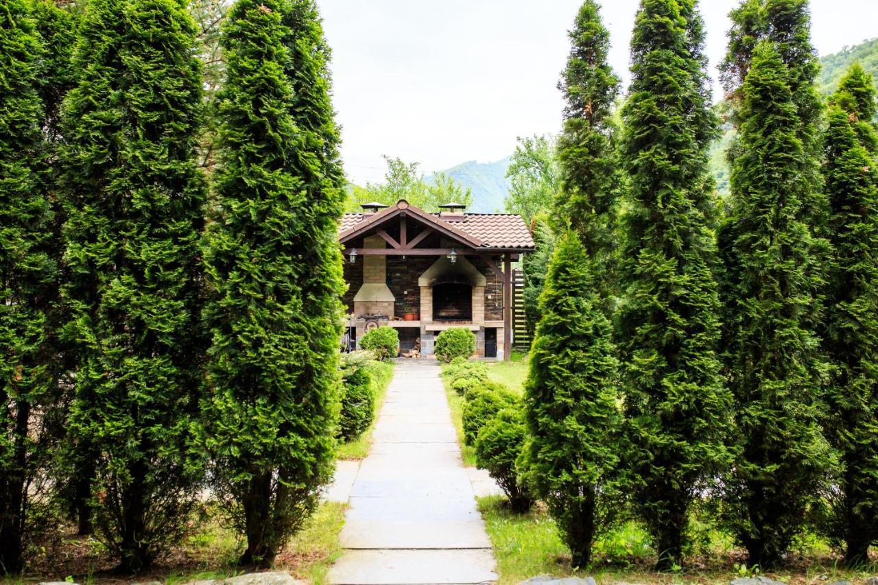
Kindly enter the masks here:
M 697 2 L 641 0 L 621 127 L 594 0 L 570 33 L 522 470 L 574 565 L 620 509 L 661 568 L 708 509 L 763 567 L 812 527 L 853 564 L 878 541 L 874 83 L 854 65 L 824 112 L 807 0 L 731 18 L 725 201 Z

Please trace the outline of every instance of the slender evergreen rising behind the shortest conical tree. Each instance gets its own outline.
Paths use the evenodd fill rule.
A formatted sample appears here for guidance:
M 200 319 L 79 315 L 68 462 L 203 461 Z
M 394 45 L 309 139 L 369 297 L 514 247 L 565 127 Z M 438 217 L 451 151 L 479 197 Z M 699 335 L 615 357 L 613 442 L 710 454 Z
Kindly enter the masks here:
M 612 217 L 619 183 L 613 107 L 620 80 L 608 64 L 609 31 L 599 5 L 586 0 L 572 31 L 570 55 L 558 88 L 564 93 L 564 129 L 558 139 L 563 189 L 562 223 L 576 230 L 594 263 L 612 248 Z M 601 264 L 606 264 L 602 262 Z M 596 272 L 603 275 L 605 272 Z

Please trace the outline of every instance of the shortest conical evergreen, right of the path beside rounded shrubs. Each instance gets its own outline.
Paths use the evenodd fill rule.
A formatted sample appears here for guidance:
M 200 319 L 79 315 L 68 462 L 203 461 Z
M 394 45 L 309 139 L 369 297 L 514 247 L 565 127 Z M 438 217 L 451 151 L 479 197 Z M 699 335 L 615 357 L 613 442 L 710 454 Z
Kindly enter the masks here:
M 574 567 L 591 562 L 594 538 L 608 529 L 618 508 L 617 364 L 600 301 L 579 236 L 563 235 L 540 297 L 543 318 L 530 352 L 523 469 L 558 523 Z

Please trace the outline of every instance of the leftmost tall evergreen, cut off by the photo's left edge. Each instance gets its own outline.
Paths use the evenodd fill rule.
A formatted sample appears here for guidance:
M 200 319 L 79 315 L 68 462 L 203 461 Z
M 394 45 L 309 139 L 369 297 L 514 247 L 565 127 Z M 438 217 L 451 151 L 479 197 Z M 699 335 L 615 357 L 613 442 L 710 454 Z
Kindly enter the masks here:
M 0 7 L 0 573 L 24 565 L 29 484 L 47 459 L 36 423 L 50 403 L 47 299 L 57 272 L 37 91 L 39 34 L 28 6 Z

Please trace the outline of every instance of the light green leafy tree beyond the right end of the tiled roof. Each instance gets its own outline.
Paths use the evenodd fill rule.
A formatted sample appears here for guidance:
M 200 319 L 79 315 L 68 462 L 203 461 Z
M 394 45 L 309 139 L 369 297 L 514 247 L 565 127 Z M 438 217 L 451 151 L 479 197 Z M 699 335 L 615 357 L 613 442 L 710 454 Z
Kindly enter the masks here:
M 518 213 L 530 224 L 540 213 L 550 211 L 562 184 L 554 137 L 519 138 L 506 177 L 509 180 L 507 213 Z

